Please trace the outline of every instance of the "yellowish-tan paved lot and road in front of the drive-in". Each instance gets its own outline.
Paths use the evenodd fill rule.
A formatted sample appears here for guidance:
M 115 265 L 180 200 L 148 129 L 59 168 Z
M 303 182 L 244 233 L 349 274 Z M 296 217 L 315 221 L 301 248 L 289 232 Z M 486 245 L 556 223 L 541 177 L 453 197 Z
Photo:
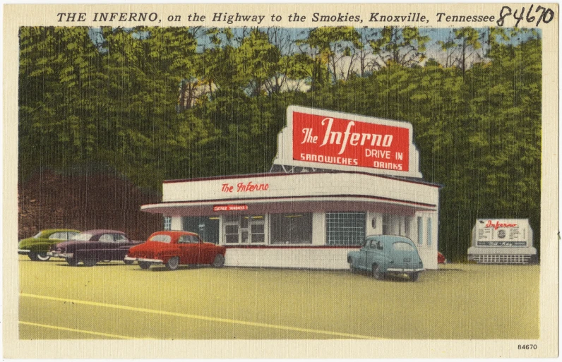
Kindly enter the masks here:
M 21 256 L 19 320 L 20 339 L 537 339 L 539 266 L 450 264 L 409 282 Z

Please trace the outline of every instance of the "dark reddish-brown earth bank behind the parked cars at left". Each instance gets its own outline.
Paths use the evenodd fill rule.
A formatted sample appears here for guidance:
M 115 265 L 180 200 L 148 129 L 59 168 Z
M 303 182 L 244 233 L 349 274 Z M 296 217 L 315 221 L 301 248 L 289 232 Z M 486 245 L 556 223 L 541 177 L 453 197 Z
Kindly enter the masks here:
M 70 176 L 44 171 L 18 186 L 18 238 L 42 229 L 115 229 L 135 240 L 162 229 L 162 216 L 140 211 L 159 202 L 114 174 Z

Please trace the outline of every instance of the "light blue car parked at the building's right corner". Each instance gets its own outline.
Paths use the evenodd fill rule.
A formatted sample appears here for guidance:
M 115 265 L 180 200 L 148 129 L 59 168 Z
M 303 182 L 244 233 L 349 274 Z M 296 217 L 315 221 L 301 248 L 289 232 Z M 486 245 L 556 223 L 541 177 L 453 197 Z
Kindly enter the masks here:
M 347 253 L 349 270 L 369 271 L 377 280 L 385 279 L 386 274 L 407 274 L 412 282 L 424 270 L 416 245 L 404 236 L 367 236 L 359 251 Z

